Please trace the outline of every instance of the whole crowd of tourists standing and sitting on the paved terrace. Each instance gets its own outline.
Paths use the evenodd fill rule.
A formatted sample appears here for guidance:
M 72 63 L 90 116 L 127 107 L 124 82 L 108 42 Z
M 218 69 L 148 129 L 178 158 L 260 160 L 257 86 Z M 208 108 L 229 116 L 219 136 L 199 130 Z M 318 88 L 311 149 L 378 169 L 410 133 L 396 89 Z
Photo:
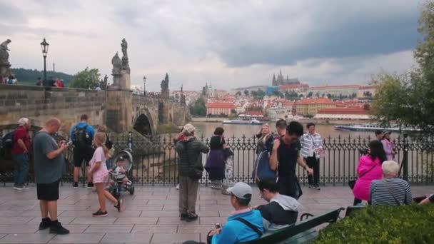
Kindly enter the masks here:
M 59 200 L 59 182 L 65 169 L 64 152 L 74 146 L 74 182 L 78 188 L 79 171 L 86 164 L 88 188 L 95 188 L 98 199 L 94 217 L 108 215 L 106 199 L 110 200 L 116 210 L 123 210 L 123 202 L 113 195 L 107 187 L 118 181 L 121 185 L 131 185 L 126 175 L 126 158 L 119 157 L 111 168 L 113 143 L 105 126 L 95 131 L 89 124 L 89 117 L 81 116 L 81 121 L 71 128 L 71 141 L 56 140 L 54 133 L 59 131 L 61 121 L 51 118 L 41 131 L 36 132 L 31 143 L 29 118 L 21 118 L 19 126 L 11 134 L 11 153 L 15 161 L 14 188 L 26 188 L 29 172 L 29 153 L 33 152 L 36 195 L 40 201 L 40 230 L 50 229 L 50 233 L 67 234 L 57 219 L 57 200 Z M 285 228 L 296 223 L 301 204 L 298 198 L 303 194 L 296 166 L 301 166 L 308 173 L 310 188 L 320 190 L 319 161 L 324 156 L 323 140 L 315 131 L 315 124 L 308 123 L 308 133 L 303 133 L 303 126 L 298 122 L 289 124 L 284 120 L 277 121 L 276 134 L 271 133 L 266 124 L 258 133 L 257 160 L 253 177 L 258 185 L 261 198 L 266 204 L 251 206 L 253 190 L 250 185 L 238 182 L 226 185 L 222 191 L 231 195 L 229 201 L 234 212 L 224 225 L 216 226 L 208 233 L 208 243 L 237 243 L 254 240 L 263 233 Z M 195 136 L 195 128 L 191 124 L 183 126 L 176 139 L 178 153 L 179 182 L 179 214 L 186 222 L 198 219 L 196 199 L 199 179 L 206 169 L 211 179 L 212 188 L 222 188 L 228 177 L 228 161 L 233 153 L 223 136 L 224 130 L 216 128 L 210 146 L 206 146 Z M 358 179 L 350 186 L 353 188 L 354 205 L 363 200 L 371 205 L 404 205 L 413 201 L 410 184 L 399 176 L 399 165 L 393 161 L 395 146 L 390 141 L 390 132 L 376 131 L 378 140 L 369 143 L 365 155 L 360 157 L 357 173 Z M 33 150 L 32 150 L 33 149 Z M 202 154 L 208 158 L 203 167 Z M 117 178 L 109 180 L 111 172 Z M 430 195 L 420 202 L 426 204 L 434 201 Z M 217 225 L 217 224 L 216 224 Z M 195 243 L 188 241 L 186 243 Z

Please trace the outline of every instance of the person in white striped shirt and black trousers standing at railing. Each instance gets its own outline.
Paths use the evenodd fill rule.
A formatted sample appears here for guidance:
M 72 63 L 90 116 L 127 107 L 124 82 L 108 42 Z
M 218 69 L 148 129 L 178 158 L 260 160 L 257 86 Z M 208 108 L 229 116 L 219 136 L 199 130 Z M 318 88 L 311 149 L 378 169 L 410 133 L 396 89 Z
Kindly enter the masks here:
M 320 188 L 320 156 L 323 153 L 323 138 L 315 131 L 315 123 L 308 123 L 308 133 L 301 138 L 301 153 L 306 164 L 313 169 L 313 176 L 308 175 L 309 188 Z

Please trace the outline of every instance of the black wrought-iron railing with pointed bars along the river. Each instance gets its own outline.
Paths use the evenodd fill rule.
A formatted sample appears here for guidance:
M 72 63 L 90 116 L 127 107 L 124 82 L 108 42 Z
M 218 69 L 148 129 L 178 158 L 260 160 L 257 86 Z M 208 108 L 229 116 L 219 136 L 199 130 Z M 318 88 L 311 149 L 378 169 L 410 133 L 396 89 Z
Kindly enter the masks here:
M 198 137 L 199 141 L 209 144 L 210 138 Z M 115 147 L 115 155 L 125 148 L 133 151 L 133 181 L 136 184 L 146 185 L 175 185 L 178 181 L 177 165 L 178 155 L 176 145 L 171 137 L 156 136 L 144 138 L 126 133 L 111 138 Z M 325 157 L 320 159 L 321 184 L 345 185 L 357 176 L 360 150 L 368 148 L 371 138 L 337 137 L 325 138 Z M 412 139 L 400 136 L 393 140 L 395 143 L 395 161 L 400 163 L 400 176 L 410 183 L 434 183 L 434 146 L 431 139 Z M 245 181 L 253 183 L 252 171 L 256 161 L 257 139 L 254 136 L 226 138 L 226 143 L 234 153 L 232 181 Z M 2 150 L 3 151 L 3 150 Z M 72 150 L 65 153 L 71 163 L 66 165 L 64 182 L 72 180 Z M 3 155 L 1 155 L 3 161 Z M 7 156 L 6 156 L 7 157 Z M 207 155 L 202 156 L 205 165 Z M 31 163 L 32 165 L 33 163 Z M 30 167 L 31 169 L 33 166 Z M 307 183 L 307 174 L 298 167 L 297 174 L 301 183 Z M 82 173 L 83 175 L 83 173 Z M 12 181 L 11 171 L 0 171 L 0 181 Z M 33 181 L 32 171 L 29 181 Z M 81 177 L 84 182 L 84 177 Z M 208 183 L 208 174 L 203 171 L 201 183 Z

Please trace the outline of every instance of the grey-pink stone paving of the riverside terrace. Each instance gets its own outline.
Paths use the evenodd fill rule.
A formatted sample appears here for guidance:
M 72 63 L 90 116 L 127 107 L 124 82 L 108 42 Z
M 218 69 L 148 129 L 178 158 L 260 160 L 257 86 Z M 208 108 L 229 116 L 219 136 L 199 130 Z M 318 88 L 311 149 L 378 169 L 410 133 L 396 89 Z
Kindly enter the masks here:
M 434 186 L 415 186 L 413 196 L 434 193 Z M 253 203 L 265 203 L 253 190 Z M 233 210 L 227 195 L 205 186 L 199 189 L 192 223 L 179 220 L 178 191 L 174 187 L 136 187 L 135 195 L 123 195 L 126 210 L 109 208 L 106 218 L 92 218 L 98 209 L 96 193 L 84 188 L 61 187 L 59 220 L 71 230 L 69 235 L 51 235 L 39 231 L 41 221 L 36 188 L 17 191 L 11 185 L 0 187 L 0 243 L 182 243 L 206 242 L 206 233 L 214 223 L 225 223 Z M 301 213 L 318 214 L 353 203 L 348 187 L 327 186 L 322 190 L 303 188 Z

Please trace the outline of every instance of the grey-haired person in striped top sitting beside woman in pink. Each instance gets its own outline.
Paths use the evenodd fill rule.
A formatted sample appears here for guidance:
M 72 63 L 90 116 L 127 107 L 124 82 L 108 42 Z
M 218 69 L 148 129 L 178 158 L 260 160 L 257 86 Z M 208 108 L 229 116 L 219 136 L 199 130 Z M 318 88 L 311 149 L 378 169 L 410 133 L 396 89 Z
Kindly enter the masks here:
M 397 178 L 399 165 L 395 161 L 385 161 L 381 166 L 383 179 L 372 181 L 370 184 L 370 202 L 372 205 L 401 205 L 410 204 L 410 184 Z

